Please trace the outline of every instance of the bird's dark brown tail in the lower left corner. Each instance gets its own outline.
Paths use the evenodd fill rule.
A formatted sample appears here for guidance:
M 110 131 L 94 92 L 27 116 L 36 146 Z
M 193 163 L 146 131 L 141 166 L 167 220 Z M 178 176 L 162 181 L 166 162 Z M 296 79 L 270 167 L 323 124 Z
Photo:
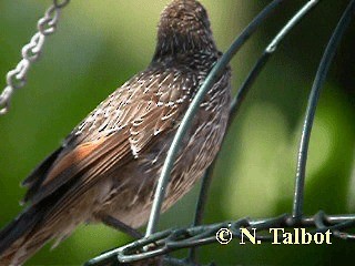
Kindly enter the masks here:
M 40 232 L 43 209 L 31 206 L 0 232 L 0 265 L 21 265 L 51 238 Z

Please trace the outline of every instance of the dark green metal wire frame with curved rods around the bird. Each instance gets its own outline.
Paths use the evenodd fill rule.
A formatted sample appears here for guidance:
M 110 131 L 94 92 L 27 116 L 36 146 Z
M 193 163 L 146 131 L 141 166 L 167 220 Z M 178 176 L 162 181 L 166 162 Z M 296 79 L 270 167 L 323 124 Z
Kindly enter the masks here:
M 236 41 L 233 42 L 229 51 L 224 54 L 221 61 L 215 65 L 215 68 L 211 71 L 207 76 L 205 83 L 200 89 L 200 99 L 203 98 L 203 93 L 209 90 L 209 85 L 211 79 L 217 79 L 219 71 L 222 71 L 225 65 L 233 58 L 233 54 L 237 51 L 235 47 L 240 48 L 252 32 L 256 30 L 257 25 L 266 19 L 266 17 L 273 11 L 274 8 L 277 7 L 282 1 L 273 1 L 270 6 L 267 6 L 261 13 L 255 18 L 255 20 L 245 29 L 245 35 L 237 38 Z M 291 18 L 291 20 L 282 28 L 282 30 L 276 34 L 276 37 L 272 40 L 272 42 L 266 47 L 264 53 L 255 63 L 254 68 L 247 75 L 245 82 L 239 90 L 237 95 L 235 96 L 232 106 L 231 106 L 231 120 L 235 117 L 242 101 L 246 96 L 250 88 L 252 86 L 255 79 L 258 76 L 264 65 L 266 64 L 270 57 L 276 51 L 277 45 L 285 38 L 285 35 L 306 16 L 316 4 L 318 4 L 318 0 L 311 0 L 306 2 L 296 14 Z M 273 6 L 275 4 L 275 6 Z M 325 81 L 328 68 L 334 58 L 334 53 L 337 49 L 337 45 L 341 42 L 341 39 L 347 29 L 351 19 L 354 17 L 355 1 L 351 1 L 346 10 L 344 11 L 336 29 L 333 32 L 333 35 L 326 47 L 322 61 L 320 63 L 314 84 L 310 94 L 308 106 L 304 120 L 304 127 L 302 132 L 302 139 L 300 144 L 298 160 L 297 160 L 297 171 L 295 178 L 295 194 L 294 194 L 294 205 L 292 214 L 284 214 L 274 218 L 265 218 L 265 219 L 251 219 L 251 218 L 241 218 L 236 222 L 225 222 L 221 224 L 213 225 L 203 225 L 197 226 L 201 223 L 203 216 L 203 206 L 207 196 L 207 187 L 211 182 L 211 175 L 213 172 L 213 165 L 209 168 L 207 173 L 203 178 L 203 184 L 199 197 L 197 208 L 195 213 L 194 226 L 183 229 L 168 229 L 164 232 L 159 232 L 153 234 L 156 228 L 156 223 L 159 221 L 160 207 L 162 201 L 164 198 L 164 186 L 166 186 L 169 181 L 169 174 L 173 164 L 174 155 L 176 149 L 179 147 L 180 140 L 185 131 L 184 126 L 189 126 L 189 122 L 193 117 L 193 110 L 197 109 L 200 104 L 200 99 L 194 99 L 192 102 L 192 106 L 189 109 L 182 124 L 180 126 L 180 132 L 176 133 L 174 139 L 174 147 L 170 150 L 170 155 L 166 156 L 165 161 L 165 171 L 163 171 L 160 183 L 156 187 L 155 194 L 155 208 L 153 207 L 151 219 L 149 223 L 149 227 L 146 231 L 145 238 L 133 242 L 123 247 L 119 247 L 116 249 L 104 253 L 87 263 L 87 265 L 102 265 L 110 262 L 120 263 L 134 263 L 138 260 L 144 260 L 152 257 L 159 257 L 162 255 L 166 255 L 173 250 L 181 248 L 191 248 L 191 253 L 187 259 L 172 259 L 170 257 L 165 257 L 165 262 L 170 265 L 197 265 L 195 263 L 195 248 L 197 246 L 211 244 L 216 242 L 216 233 L 220 228 L 229 228 L 233 237 L 241 238 L 241 228 L 255 228 L 258 234 L 256 235 L 256 239 L 260 241 L 268 241 L 272 242 L 275 239 L 275 236 L 271 235 L 267 232 L 273 227 L 284 227 L 284 228 L 295 228 L 296 226 L 311 227 L 311 234 L 315 233 L 324 233 L 327 231 L 332 231 L 333 236 L 341 239 L 354 239 L 354 236 L 349 233 L 342 232 L 343 229 L 351 228 L 355 225 L 355 216 L 354 215 L 326 215 L 322 211 L 320 211 L 314 216 L 304 216 L 303 215 L 303 193 L 304 193 L 304 180 L 305 180 L 305 165 L 307 161 L 307 149 L 311 139 L 312 124 L 315 116 L 315 109 L 317 105 L 320 92 L 322 85 Z M 268 13 L 270 12 L 270 13 Z M 258 21 L 260 19 L 260 21 Z M 255 22 L 255 23 L 254 23 Z M 239 43 L 239 44 L 236 44 Z M 235 49 L 235 50 L 233 50 Z M 225 61 L 224 61 L 225 60 Z M 225 62 L 221 64 L 221 62 Z M 219 69 L 217 69 L 219 68 Z M 212 80 L 214 81 L 214 80 Z M 205 91 L 204 91 L 205 90 Z M 196 95 L 197 98 L 197 95 Z M 162 190 L 163 188 L 163 190 Z M 294 233 L 296 234 L 296 233 Z M 281 235 L 276 236 L 277 239 L 282 239 Z

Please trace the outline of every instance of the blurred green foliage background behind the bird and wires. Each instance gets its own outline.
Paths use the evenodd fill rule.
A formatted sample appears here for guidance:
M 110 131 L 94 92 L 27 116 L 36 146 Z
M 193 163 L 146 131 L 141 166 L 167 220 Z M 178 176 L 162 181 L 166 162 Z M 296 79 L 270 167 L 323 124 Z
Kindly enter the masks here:
M 219 48 L 232 40 L 268 2 L 201 0 Z M 19 183 L 100 101 L 135 72 L 154 51 L 159 16 L 169 0 L 82 0 L 63 10 L 58 32 L 30 70 L 10 112 L 0 117 L 0 226 L 20 212 Z M 305 1 L 288 1 L 234 58 L 234 91 L 272 37 Z M 290 213 L 296 151 L 312 81 L 326 41 L 347 1 L 324 0 L 285 39 L 244 102 L 224 143 L 206 207 L 205 223 Z M 50 0 L 0 0 L 0 73 L 20 60 Z M 305 214 L 355 212 L 355 24 L 352 23 L 317 108 L 305 191 Z M 1 81 L 4 86 L 4 79 Z M 161 228 L 187 226 L 196 186 L 162 216 Z M 131 241 L 101 225 L 82 226 L 28 265 L 80 265 Z M 184 256 L 180 252 L 179 256 Z M 354 244 L 274 246 L 210 245 L 201 262 L 217 265 L 341 265 Z

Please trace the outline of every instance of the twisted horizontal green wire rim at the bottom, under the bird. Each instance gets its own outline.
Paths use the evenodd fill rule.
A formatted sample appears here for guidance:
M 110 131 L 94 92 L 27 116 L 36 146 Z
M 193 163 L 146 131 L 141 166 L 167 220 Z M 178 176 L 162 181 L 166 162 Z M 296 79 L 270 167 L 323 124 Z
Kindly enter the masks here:
M 113 249 L 110 253 L 105 253 L 97 258 L 89 260 L 85 265 L 105 265 L 108 262 L 116 259 L 119 256 L 119 265 L 123 263 L 134 263 L 141 259 L 148 259 L 156 256 L 162 256 L 164 254 L 191 247 L 191 246 L 203 246 L 212 243 L 216 243 L 215 234 L 220 228 L 227 227 L 232 234 L 233 238 L 242 238 L 241 228 L 255 228 L 256 235 L 255 239 L 262 242 L 273 242 L 276 239 L 282 241 L 283 236 L 277 235 L 276 237 L 271 234 L 270 228 L 294 228 L 293 216 L 290 214 L 283 214 L 277 217 L 267 219 L 251 219 L 241 218 L 235 222 L 224 222 L 219 224 L 193 226 L 182 229 L 168 229 L 164 232 L 155 233 L 148 238 L 136 241 L 123 247 Z M 355 215 L 332 215 L 328 216 L 323 212 L 318 212 L 313 216 L 304 216 L 300 219 L 300 225 L 303 228 L 308 228 L 307 233 L 325 233 L 339 232 L 351 228 L 355 225 Z M 295 235 L 293 233 L 293 235 Z M 334 237 L 341 239 L 353 241 L 353 235 L 348 233 L 333 234 Z M 144 250 L 148 244 L 153 244 L 150 246 L 149 250 Z M 171 260 L 169 258 L 168 260 Z M 176 259 L 175 259 L 176 263 Z M 189 265 L 189 262 L 180 260 L 180 265 Z M 175 264 L 179 265 L 179 264 Z M 190 264 L 191 265 L 191 264 Z

